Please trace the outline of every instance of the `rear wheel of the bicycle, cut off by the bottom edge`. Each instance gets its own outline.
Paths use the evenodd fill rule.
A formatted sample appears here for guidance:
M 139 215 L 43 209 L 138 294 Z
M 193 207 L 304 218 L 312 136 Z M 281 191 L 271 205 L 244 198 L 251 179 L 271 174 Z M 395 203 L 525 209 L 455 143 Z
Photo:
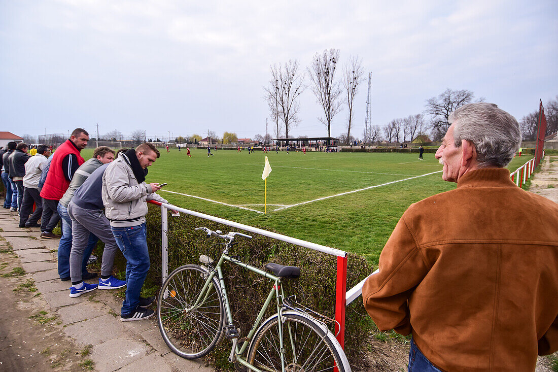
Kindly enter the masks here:
M 286 372 L 350 372 L 347 356 L 333 334 L 300 313 L 283 313 L 282 325 Z M 278 316 L 268 318 L 256 332 L 248 351 L 248 363 L 264 371 L 282 371 Z

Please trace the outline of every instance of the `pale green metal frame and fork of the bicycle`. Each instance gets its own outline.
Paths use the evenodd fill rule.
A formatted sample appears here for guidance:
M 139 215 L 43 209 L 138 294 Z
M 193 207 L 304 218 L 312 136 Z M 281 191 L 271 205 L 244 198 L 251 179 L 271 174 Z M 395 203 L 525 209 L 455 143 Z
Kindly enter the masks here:
M 231 257 L 231 256 L 228 255 L 229 246 L 228 245 L 225 245 L 225 246 L 226 246 L 226 248 L 223 251 L 223 254 L 221 255 L 217 265 L 215 265 L 214 267 L 210 264 L 209 264 L 209 267 L 205 266 L 206 269 L 208 269 L 208 273 L 207 273 L 208 275 L 205 278 L 204 287 L 201 289 L 200 294 L 199 294 L 198 298 L 196 299 L 192 308 L 195 308 L 195 307 L 199 306 L 200 303 L 203 303 L 203 301 L 205 301 L 207 293 L 209 292 L 208 289 L 211 289 L 211 285 L 213 285 L 211 283 L 211 279 L 213 279 L 215 274 L 217 274 L 217 276 L 219 278 L 220 290 L 221 290 L 221 293 L 223 294 L 223 303 L 225 305 L 225 313 L 226 313 L 226 318 L 225 318 L 226 325 L 223 326 L 222 332 L 224 332 L 224 328 L 226 326 L 234 326 L 232 312 L 230 311 L 227 289 L 225 288 L 225 280 L 224 280 L 224 276 L 223 276 L 223 271 L 221 269 L 221 266 L 223 265 L 224 261 L 229 261 L 229 263 L 238 265 L 238 266 L 240 266 L 244 269 L 247 269 L 247 270 L 252 271 L 253 273 L 262 275 L 262 276 L 264 276 L 264 278 L 270 279 L 273 282 L 275 282 L 275 284 L 273 284 L 273 286 L 270 290 L 270 293 L 267 295 L 266 301 L 263 303 L 262 309 L 259 311 L 258 316 L 256 317 L 256 321 L 254 322 L 254 325 L 252 326 L 251 330 L 248 332 L 248 335 L 246 336 L 242 345 L 238 346 L 238 344 L 237 344 L 238 343 L 238 341 L 237 341 L 238 338 L 233 338 L 233 340 L 232 340 L 232 350 L 231 350 L 231 353 L 230 353 L 230 356 L 229 356 L 229 362 L 230 363 L 232 363 L 236 359 L 236 361 L 238 361 L 238 363 L 246 366 L 247 368 L 249 368 L 253 371 L 263 372 L 263 371 L 257 369 L 256 367 L 254 367 L 253 365 L 249 364 L 248 361 L 246 359 L 244 359 L 243 357 L 241 357 L 240 355 L 244 354 L 244 352 L 247 351 L 247 348 L 250 345 L 250 341 L 252 340 L 252 337 L 254 336 L 254 333 L 256 333 L 256 331 L 258 329 L 258 325 L 262 321 L 264 313 L 267 311 L 268 307 L 270 307 L 271 301 L 272 301 L 274 296 L 276 298 L 277 313 L 279 314 L 280 319 L 282 319 L 281 308 L 283 306 L 282 298 L 284 297 L 284 294 L 283 294 L 283 288 L 281 287 L 281 279 L 278 278 L 277 276 L 273 275 L 273 274 L 267 273 L 266 271 L 263 271 L 261 269 L 256 268 L 256 266 L 252 266 L 250 264 L 246 264 L 246 263 L 243 263 L 242 261 L 238 261 L 238 260 L 234 259 L 234 257 Z M 282 350 L 284 350 L 282 322 L 280 322 L 280 325 L 281 325 L 279 327 L 280 347 L 281 347 Z M 282 365 L 283 370 L 285 370 L 285 360 L 284 360 L 282 354 L 281 354 L 281 365 Z

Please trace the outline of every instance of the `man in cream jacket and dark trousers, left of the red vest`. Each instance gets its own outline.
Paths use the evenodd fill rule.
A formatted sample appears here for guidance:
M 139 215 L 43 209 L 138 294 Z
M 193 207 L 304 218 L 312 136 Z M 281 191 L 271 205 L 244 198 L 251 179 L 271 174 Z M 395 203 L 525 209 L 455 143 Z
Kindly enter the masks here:
M 20 227 L 40 227 L 37 224 L 42 214 L 42 199 L 39 195 L 39 178 L 45 168 L 50 149 L 46 145 L 37 147 L 37 154 L 31 156 L 25 163 L 25 176 L 23 177 L 23 202 L 20 207 Z M 35 212 L 33 212 L 35 203 Z M 33 213 L 33 214 L 31 214 Z M 29 216 L 31 214 L 31 216 Z

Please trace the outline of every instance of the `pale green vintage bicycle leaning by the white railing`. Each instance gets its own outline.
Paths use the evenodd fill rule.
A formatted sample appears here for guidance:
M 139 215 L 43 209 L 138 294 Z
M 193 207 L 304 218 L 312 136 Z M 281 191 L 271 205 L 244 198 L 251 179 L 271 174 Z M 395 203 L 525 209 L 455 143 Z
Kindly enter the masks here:
M 217 263 L 201 255 L 201 265 L 180 266 L 163 283 L 157 302 L 157 321 L 172 351 L 186 359 L 200 358 L 209 354 L 224 337 L 232 344 L 229 363 L 238 363 L 249 370 L 350 371 L 347 356 L 328 327 L 335 321 L 297 303 L 295 295 L 287 298 L 283 293 L 281 280 L 298 278 L 299 268 L 268 263 L 265 267 L 271 273 L 258 269 L 229 255 L 235 238 L 252 239 L 251 236 L 240 232 L 223 234 L 206 227 L 196 230 L 223 239 L 225 247 Z M 230 311 L 222 271 L 225 261 L 271 282 L 270 293 L 253 327 L 242 339 Z M 262 321 L 274 300 L 277 312 Z

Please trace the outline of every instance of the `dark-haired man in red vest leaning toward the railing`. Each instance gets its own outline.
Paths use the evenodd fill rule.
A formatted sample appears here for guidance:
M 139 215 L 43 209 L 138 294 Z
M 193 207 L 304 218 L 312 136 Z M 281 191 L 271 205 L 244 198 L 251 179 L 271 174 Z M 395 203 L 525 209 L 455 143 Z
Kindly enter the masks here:
M 40 194 L 43 199 L 43 216 L 45 216 L 46 209 L 48 209 L 47 216 L 49 214 L 58 214 L 58 202 L 68 189 L 76 169 L 85 162 L 80 155 L 80 151 L 85 148 L 88 141 L 89 133 L 82 128 L 76 128 L 71 133 L 70 139 L 61 144 L 54 152 L 49 173 L 46 176 L 45 184 Z M 62 223 L 62 221 L 60 222 Z M 50 223 L 46 225 L 45 231 L 41 233 L 41 237 L 47 239 L 59 238 L 59 235 L 52 233 L 52 229 L 55 226 L 51 226 Z

